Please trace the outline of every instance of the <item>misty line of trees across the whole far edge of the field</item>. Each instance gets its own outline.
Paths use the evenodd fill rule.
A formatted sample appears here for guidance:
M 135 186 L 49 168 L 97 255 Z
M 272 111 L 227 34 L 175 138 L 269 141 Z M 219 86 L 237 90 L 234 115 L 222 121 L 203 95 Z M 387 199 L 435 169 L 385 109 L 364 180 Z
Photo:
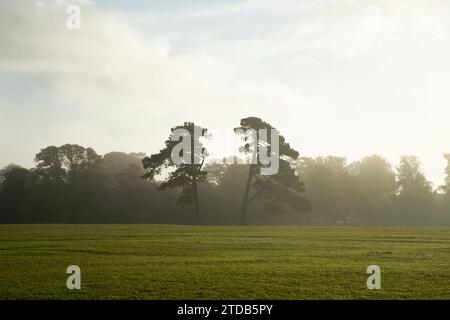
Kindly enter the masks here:
M 279 136 L 279 172 L 262 175 L 263 164 L 224 164 L 204 152 L 191 163 L 171 159 L 176 129 L 194 133 L 186 122 L 171 129 L 164 148 L 103 156 L 75 144 L 49 146 L 35 167 L 0 170 L 0 223 L 167 223 L 205 225 L 450 226 L 450 154 L 443 186 L 433 189 L 415 156 L 394 168 L 372 155 L 300 157 Z M 273 129 L 255 117 L 240 129 Z M 200 128 L 202 134 L 207 129 Z M 248 137 L 242 152 L 250 153 Z M 271 152 L 271 141 L 264 148 Z M 259 148 L 263 144 L 257 141 Z M 227 162 L 229 163 L 229 162 Z

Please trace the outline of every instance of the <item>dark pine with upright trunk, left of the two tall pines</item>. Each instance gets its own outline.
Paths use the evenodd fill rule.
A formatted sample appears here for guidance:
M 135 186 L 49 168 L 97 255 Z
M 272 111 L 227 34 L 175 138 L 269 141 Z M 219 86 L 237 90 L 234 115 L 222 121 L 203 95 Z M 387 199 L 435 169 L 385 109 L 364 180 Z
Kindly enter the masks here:
M 170 137 L 165 141 L 164 149 L 142 160 L 143 167 L 147 170 L 144 178 L 154 180 L 161 173 L 167 173 L 168 170 L 172 169 L 172 171 L 167 173 L 167 178 L 158 186 L 158 190 L 180 188 L 181 196 L 177 200 L 178 204 L 194 203 L 195 221 L 199 224 L 200 200 L 198 184 L 205 182 L 207 177 L 207 172 L 203 170 L 207 153 L 200 138 L 207 134 L 207 129 L 196 126 L 192 122 L 185 122 L 183 125 L 172 128 L 171 132 Z M 184 133 L 180 137 L 176 137 L 174 135 L 175 132 Z M 200 133 L 200 136 L 196 134 L 197 132 Z M 181 139 L 181 141 L 190 138 L 190 148 L 184 149 L 179 153 L 180 157 L 189 159 L 190 163 L 175 163 L 173 161 L 172 152 L 175 152 L 174 149 L 180 143 L 180 140 L 177 140 L 177 138 Z M 196 146 L 198 149 L 196 149 Z

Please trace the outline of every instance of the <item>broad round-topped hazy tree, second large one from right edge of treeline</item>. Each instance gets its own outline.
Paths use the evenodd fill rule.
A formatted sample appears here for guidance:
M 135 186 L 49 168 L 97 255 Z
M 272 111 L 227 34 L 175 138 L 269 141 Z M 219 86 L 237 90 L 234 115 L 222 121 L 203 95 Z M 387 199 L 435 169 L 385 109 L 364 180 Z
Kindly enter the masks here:
M 365 157 L 352 163 L 351 174 L 355 177 L 355 206 L 357 216 L 369 225 L 391 223 L 395 199 L 395 172 L 391 164 L 380 156 Z

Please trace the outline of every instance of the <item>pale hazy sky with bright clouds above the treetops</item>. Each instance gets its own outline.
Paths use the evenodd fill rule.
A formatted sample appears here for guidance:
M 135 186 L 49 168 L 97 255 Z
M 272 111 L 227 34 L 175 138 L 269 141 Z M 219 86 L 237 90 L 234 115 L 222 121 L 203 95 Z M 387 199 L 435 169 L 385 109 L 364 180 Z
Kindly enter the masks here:
M 0 166 L 65 143 L 152 154 L 184 121 L 217 139 L 257 116 L 301 156 L 417 155 L 438 186 L 448 57 L 448 0 L 2 0 Z

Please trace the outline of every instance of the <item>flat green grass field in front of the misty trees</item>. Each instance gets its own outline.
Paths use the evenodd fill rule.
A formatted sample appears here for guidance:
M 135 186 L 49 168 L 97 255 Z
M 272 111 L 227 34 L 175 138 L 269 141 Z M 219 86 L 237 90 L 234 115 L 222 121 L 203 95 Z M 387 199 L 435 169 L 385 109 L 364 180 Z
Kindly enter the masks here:
M 450 299 L 449 272 L 449 229 L 0 226 L 1 299 Z

